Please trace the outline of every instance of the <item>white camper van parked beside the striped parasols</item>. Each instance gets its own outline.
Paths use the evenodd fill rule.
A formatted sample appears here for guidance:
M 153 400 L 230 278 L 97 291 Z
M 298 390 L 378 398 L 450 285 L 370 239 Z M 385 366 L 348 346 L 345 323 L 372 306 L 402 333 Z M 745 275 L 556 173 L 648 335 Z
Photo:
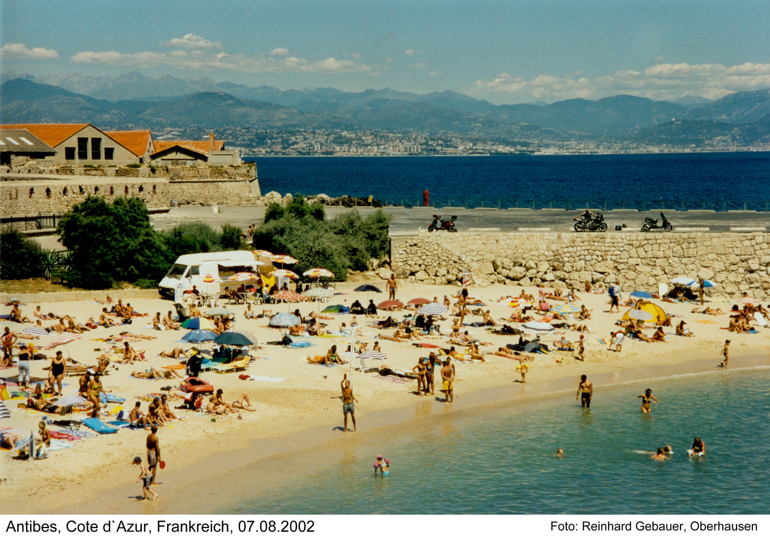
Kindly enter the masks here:
M 261 279 L 229 281 L 238 272 L 253 272 L 259 276 L 259 267 L 264 266 L 251 251 L 216 251 L 213 253 L 190 253 L 176 260 L 166 277 L 160 280 L 158 292 L 164 298 L 173 298 L 174 290 L 181 284 L 182 291 L 192 286 L 202 293 L 221 293 L 225 287 L 239 287 L 241 283 L 259 286 Z

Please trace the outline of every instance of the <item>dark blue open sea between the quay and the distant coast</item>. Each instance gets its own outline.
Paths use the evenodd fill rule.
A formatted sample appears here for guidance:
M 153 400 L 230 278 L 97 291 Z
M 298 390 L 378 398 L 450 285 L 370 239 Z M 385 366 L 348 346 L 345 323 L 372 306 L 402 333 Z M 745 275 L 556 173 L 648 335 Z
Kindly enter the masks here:
M 770 200 L 770 152 L 617 156 L 270 157 L 263 193 L 417 200 Z

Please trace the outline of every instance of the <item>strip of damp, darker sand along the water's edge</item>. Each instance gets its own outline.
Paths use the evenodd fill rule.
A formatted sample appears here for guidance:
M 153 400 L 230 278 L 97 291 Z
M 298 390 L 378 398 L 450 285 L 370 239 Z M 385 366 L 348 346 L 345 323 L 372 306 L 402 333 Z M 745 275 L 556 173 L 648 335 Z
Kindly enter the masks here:
M 628 370 L 601 371 L 591 375 L 589 380 L 594 384 L 594 390 L 604 387 L 612 387 L 616 384 L 630 384 L 634 382 L 644 382 L 644 385 L 651 381 L 668 379 L 671 377 L 695 377 L 704 374 L 727 374 L 731 371 L 744 371 L 756 369 L 758 367 L 770 367 L 770 357 L 759 355 L 734 357 L 734 365 L 741 364 L 740 367 L 733 367 L 729 371 L 721 370 L 716 367 L 715 361 L 705 359 L 695 359 L 685 361 L 680 364 L 667 365 L 646 365 L 633 367 Z M 661 371 L 662 373 L 650 374 L 651 371 Z M 220 463 L 213 470 L 206 470 L 201 473 L 201 465 L 204 460 L 186 465 L 184 468 L 173 473 L 164 473 L 164 484 L 170 484 L 178 478 L 192 478 L 198 476 L 196 481 L 189 481 L 187 484 L 178 484 L 163 494 L 163 502 L 157 508 L 150 506 L 142 508 L 144 513 L 177 513 L 177 514 L 196 514 L 196 513 L 218 513 L 225 511 L 225 506 L 216 510 L 206 508 L 206 511 L 196 511 L 195 502 L 188 502 L 191 489 L 199 488 L 200 485 L 206 485 L 206 491 L 210 498 L 223 500 L 233 491 L 239 491 L 239 488 L 233 486 L 233 480 L 240 478 L 245 486 L 243 488 L 252 488 L 248 495 L 253 497 L 269 491 L 280 488 L 280 485 L 294 480 L 300 480 L 304 475 L 318 471 L 317 463 L 326 463 L 335 457 L 339 457 L 340 452 L 349 452 L 352 448 L 362 446 L 372 446 L 373 441 L 392 441 L 393 438 L 408 437 L 413 430 L 413 424 L 424 421 L 425 418 L 435 418 L 437 421 L 451 421 L 456 415 L 477 414 L 482 415 L 490 408 L 499 407 L 507 404 L 515 404 L 517 401 L 537 400 L 537 399 L 555 399 L 558 394 L 564 394 L 567 391 L 574 390 L 577 382 L 574 376 L 564 375 L 557 379 L 539 381 L 534 384 L 527 383 L 534 391 L 524 394 L 525 388 L 520 385 L 505 385 L 497 387 L 488 387 L 485 389 L 470 391 L 469 394 L 462 394 L 463 401 L 460 404 L 444 404 L 443 401 L 431 399 L 421 404 L 408 405 L 398 408 L 388 408 L 384 411 L 367 415 L 367 426 L 357 434 L 347 435 L 344 438 L 335 431 L 333 424 L 317 425 L 313 428 L 307 428 L 303 431 L 286 434 L 277 438 L 251 438 L 246 441 L 246 448 L 224 451 L 217 454 Z M 517 394 L 517 395 L 514 395 Z M 601 393 L 599 394 L 601 399 Z M 571 400 L 570 400 L 571 401 Z M 480 408 L 480 411 L 474 409 Z M 360 423 L 360 422 L 359 422 Z M 244 451 L 248 455 L 244 458 Z M 248 470 L 246 471 L 246 468 Z M 237 475 L 240 470 L 244 470 L 244 475 Z M 263 485 L 258 489 L 253 489 L 250 485 L 250 477 L 258 475 L 259 472 L 268 470 L 269 478 L 263 478 Z M 221 479 L 223 476 L 229 478 L 229 481 L 223 485 L 213 485 L 213 480 Z M 166 479 L 169 478 L 169 479 Z M 99 491 L 96 494 L 101 501 L 89 503 L 89 513 L 92 514 L 129 514 L 133 513 L 127 508 L 119 508 L 115 503 L 125 499 L 126 491 L 136 491 L 131 482 L 123 483 L 115 488 L 108 488 Z M 165 504 L 164 504 L 165 503 Z M 166 504 L 173 505 L 175 508 L 171 511 Z M 72 507 L 57 508 L 52 513 L 78 513 L 83 509 L 80 505 Z

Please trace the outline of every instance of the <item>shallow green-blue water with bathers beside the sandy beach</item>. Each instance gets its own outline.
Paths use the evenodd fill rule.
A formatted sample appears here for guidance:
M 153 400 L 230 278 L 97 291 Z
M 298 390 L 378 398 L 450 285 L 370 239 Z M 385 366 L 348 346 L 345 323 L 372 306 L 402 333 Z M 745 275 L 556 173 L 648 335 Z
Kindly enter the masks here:
M 639 411 L 645 384 L 574 394 L 484 414 L 426 417 L 413 438 L 346 452 L 300 483 L 227 511 L 249 513 L 768 513 L 770 369 L 649 383 L 660 403 Z M 688 458 L 698 435 L 706 458 Z M 671 444 L 671 460 L 635 451 Z M 557 447 L 566 457 L 555 457 Z M 390 476 L 373 478 L 378 452 Z

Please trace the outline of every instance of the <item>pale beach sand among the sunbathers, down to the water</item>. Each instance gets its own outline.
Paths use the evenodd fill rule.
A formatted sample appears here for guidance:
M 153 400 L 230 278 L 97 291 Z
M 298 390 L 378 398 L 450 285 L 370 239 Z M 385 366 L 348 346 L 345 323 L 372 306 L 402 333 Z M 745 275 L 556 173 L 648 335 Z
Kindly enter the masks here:
M 381 283 L 377 283 L 378 286 Z M 471 296 L 483 300 L 490 309 L 491 315 L 497 319 L 507 317 L 511 308 L 496 304 L 502 295 L 515 294 L 521 287 L 497 285 L 479 289 L 470 287 Z M 353 293 L 345 291 L 345 295 L 333 298 L 334 303 L 350 305 L 353 300 L 361 300 L 366 305 L 372 297 L 379 303 L 385 294 Z M 457 293 L 457 287 L 439 287 L 404 283 L 400 285 L 397 297 L 402 301 L 413 297 L 434 296 L 443 299 L 444 294 Z M 537 295 L 537 289 L 528 287 L 527 293 Z M 266 377 L 284 377 L 280 382 L 242 381 L 238 374 L 216 374 L 206 372 L 202 378 L 209 381 L 215 388 L 223 388 L 226 399 L 235 399 L 239 394 L 249 394 L 255 412 L 243 411 L 243 419 L 236 414 L 216 416 L 199 414 L 191 411 L 176 411 L 176 414 L 186 415 L 186 421 L 173 422 L 169 427 L 159 430 L 159 441 L 162 459 L 168 464 L 167 468 L 159 471 L 158 480 L 162 485 L 157 487 L 161 499 L 157 503 L 136 501 L 136 495 L 141 488 L 135 483 L 138 471 L 130 465 L 135 455 L 145 458 L 144 430 L 122 429 L 118 434 L 100 435 L 75 444 L 73 448 L 52 451 L 49 459 L 39 461 L 11 460 L 0 454 L 0 502 L 8 513 L 142 513 L 142 512 L 204 512 L 212 508 L 192 504 L 189 498 L 190 489 L 198 492 L 232 494 L 233 485 L 221 485 L 221 478 L 229 478 L 229 474 L 239 468 L 259 466 L 261 470 L 269 471 L 269 481 L 265 485 L 279 487 L 287 478 L 301 476 L 304 470 L 310 470 L 312 463 L 298 458 L 301 451 L 316 448 L 327 455 L 339 456 L 346 448 L 363 444 L 362 441 L 374 441 L 377 438 L 396 437 L 400 433 L 397 424 L 413 422 L 415 419 L 430 418 L 431 414 L 451 415 L 461 414 L 469 408 L 490 406 L 490 402 L 504 401 L 514 398 L 536 398 L 548 392 L 563 391 L 565 388 L 577 388 L 580 374 L 588 374 L 596 387 L 612 382 L 640 380 L 646 377 L 662 377 L 671 374 L 683 374 L 697 371 L 718 369 L 721 362 L 719 351 L 725 339 L 731 339 L 731 368 L 746 367 L 768 363 L 770 357 L 770 330 L 759 334 L 730 334 L 720 327 L 727 326 L 728 316 L 710 317 L 702 314 L 691 314 L 695 304 L 656 303 L 665 307 L 669 314 L 685 318 L 688 327 L 695 332 L 695 337 L 677 337 L 667 335 L 667 343 L 647 344 L 638 340 L 626 339 L 623 351 L 614 353 L 608 350 L 608 345 L 600 344 L 598 339 L 608 341 L 611 330 L 617 329 L 615 321 L 618 314 L 608 314 L 608 297 L 581 293 L 575 304 L 585 304 L 593 310 L 593 318 L 587 324 L 594 331 L 585 334 L 585 361 L 575 359 L 574 353 L 567 351 L 552 351 L 551 354 L 535 355 L 534 361 L 529 361 L 527 384 L 518 383 L 517 364 L 514 360 L 504 357 L 486 356 L 487 362 L 473 364 L 456 363 L 457 378 L 455 381 L 455 403 L 444 404 L 437 398 L 443 397 L 439 391 L 436 397 L 416 394 L 414 381 L 397 384 L 375 377 L 376 373 L 353 372 L 353 387 L 359 403 L 356 404 L 357 425 L 359 433 L 343 434 L 340 401 L 334 398 L 340 395 L 340 381 L 343 374 L 350 374 L 349 366 L 323 367 L 303 364 L 300 358 L 306 354 L 325 354 L 326 350 L 336 344 L 344 350 L 350 338 L 323 339 L 310 338 L 313 347 L 309 349 L 290 349 L 264 345 L 269 340 L 280 339 L 280 330 L 266 327 L 267 319 L 244 320 L 243 306 L 233 306 L 236 311 L 236 330 L 248 330 L 259 338 L 263 344 L 258 353 L 261 357 L 246 369 L 246 374 Z M 624 294 L 624 297 L 628 297 Z M 172 302 L 160 299 L 132 299 L 131 304 L 136 310 L 154 314 L 160 311 L 165 314 L 172 309 Z M 554 304 L 554 301 L 551 301 Z M 710 304 L 728 310 L 731 304 Z M 267 306 L 273 313 L 278 310 L 294 310 L 300 308 L 303 314 L 316 310 L 316 303 L 279 304 Z M 35 306 L 22 307 L 22 312 L 31 315 Z M 323 304 L 322 304 L 323 308 Z M 9 308 L 8 308 L 9 309 Z M 256 313 L 261 313 L 263 307 L 257 306 Z M 628 308 L 621 308 L 621 314 Z M 60 304 L 42 305 L 44 312 L 53 311 L 56 314 L 70 314 L 83 321 L 95 316 L 101 310 L 98 304 L 79 301 Z M 386 312 L 380 312 L 383 314 Z M 403 314 L 404 312 L 401 312 Z M 384 317 L 378 317 L 384 318 Z M 369 320 L 357 317 L 360 324 Z M 324 321 L 330 330 L 336 330 L 341 322 L 350 324 L 351 315 L 335 315 L 334 320 Z M 480 320 L 480 317 L 467 317 L 466 322 Z M 679 318 L 675 318 L 675 323 Z M 718 324 L 704 324 L 698 320 L 710 320 Z M 92 341 L 95 337 L 107 337 L 119 330 L 129 330 L 141 334 L 157 336 L 156 340 L 132 342 L 137 349 L 146 350 L 146 362 L 133 365 L 119 365 L 118 370 L 112 366 L 110 374 L 102 379 L 105 388 L 112 394 L 126 397 L 123 407 L 129 411 L 135 397 L 150 392 L 158 392 L 166 385 L 178 386 L 179 380 L 146 381 L 129 377 L 131 371 L 139 371 L 150 366 L 160 368 L 174 364 L 173 360 L 157 356 L 161 350 L 170 350 L 180 345 L 175 343 L 186 330 L 158 332 L 143 328 L 149 324 L 151 317 L 135 320 L 131 326 L 115 327 L 113 329 L 99 328 L 84 335 L 84 338 L 61 349 L 69 353 L 75 360 L 90 364 L 93 358 L 101 354 L 96 347 L 105 348 L 105 344 Z M 448 331 L 451 320 L 441 324 L 442 330 Z M 23 330 L 29 325 L 8 324 L 12 330 Z M 370 334 L 357 337 L 357 340 L 367 341 L 371 345 L 377 338 L 379 330 L 365 328 Z M 517 336 L 501 336 L 489 334 L 484 328 L 469 327 L 474 337 L 490 341 L 494 345 L 480 347 L 484 350 L 497 350 L 497 347 L 517 341 Z M 674 334 L 673 328 L 666 328 L 667 334 Z M 652 330 L 645 332 L 648 336 Z M 567 339 L 577 341 L 578 334 L 567 330 Z M 543 337 L 542 341 L 550 344 L 561 337 L 561 334 Z M 48 338 L 36 340 L 45 344 Z M 427 343 L 444 344 L 446 338 L 439 340 L 423 339 Z M 409 343 L 395 343 L 380 340 L 384 353 L 388 355 L 384 364 L 411 370 L 417 364 L 421 355 L 427 355 L 430 349 L 413 347 Z M 458 350 L 460 347 L 457 347 Z M 49 352 L 49 351 L 46 351 Z M 269 358 L 269 359 L 265 359 Z M 562 362 L 557 362 L 562 360 Z M 378 362 L 380 364 L 380 362 Z M 42 376 L 49 362 L 32 362 L 32 375 Z M 0 371 L 0 377 L 15 377 L 16 370 Z M 440 387 L 440 375 L 437 373 L 437 386 Z M 350 377 L 350 375 L 349 375 Z M 64 394 L 72 394 L 76 390 L 77 378 L 66 377 Z M 642 388 L 643 390 L 643 388 Z M 12 410 L 12 418 L 2 421 L 3 426 L 19 428 L 26 431 L 35 429 L 42 419 L 42 414 L 17 411 L 16 404 L 21 401 L 5 401 Z M 180 404 L 172 402 L 172 405 Z M 146 411 L 147 403 L 142 402 L 142 411 Z M 82 415 L 81 415 L 82 416 Z M 49 418 L 52 418 L 49 415 Z M 79 415 L 75 415 L 79 418 Z M 216 418 L 216 421 L 212 421 Z M 349 425 L 349 427 L 352 427 Z M 231 475 L 230 475 L 231 476 Z M 237 492 L 237 491 L 236 491 Z M 213 495 L 212 500 L 220 500 Z

